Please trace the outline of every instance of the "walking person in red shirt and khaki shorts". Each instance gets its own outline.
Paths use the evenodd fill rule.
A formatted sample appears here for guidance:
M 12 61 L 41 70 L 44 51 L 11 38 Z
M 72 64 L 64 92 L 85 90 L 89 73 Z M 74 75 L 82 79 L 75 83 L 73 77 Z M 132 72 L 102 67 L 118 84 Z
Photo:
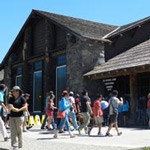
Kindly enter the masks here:
M 103 96 L 100 94 L 97 96 L 97 99 L 94 101 L 93 104 L 93 117 L 94 122 L 96 125 L 98 125 L 98 133 L 97 135 L 100 137 L 103 137 L 104 135 L 101 132 L 102 123 L 103 123 L 103 111 L 101 108 L 100 102 L 102 101 Z M 92 128 L 94 127 L 94 124 L 88 129 L 88 135 L 90 135 Z

